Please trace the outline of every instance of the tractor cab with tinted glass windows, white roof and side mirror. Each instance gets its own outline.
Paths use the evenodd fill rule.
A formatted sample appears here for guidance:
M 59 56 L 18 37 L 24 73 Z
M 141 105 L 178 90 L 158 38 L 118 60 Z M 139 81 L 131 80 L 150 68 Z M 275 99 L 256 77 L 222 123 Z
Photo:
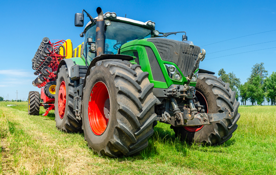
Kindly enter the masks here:
M 81 16 L 83 13 L 76 13 L 76 26 L 78 26 L 78 24 L 76 24 L 76 17 L 79 17 L 77 14 Z M 155 22 L 151 20 L 141 22 L 126 17 L 118 17 L 115 12 L 104 13 L 102 15 L 103 19 L 99 19 L 99 16 L 92 20 L 92 17 L 89 17 L 90 21 L 86 24 L 84 31 L 80 34 L 81 36 L 85 35 L 83 56 L 87 59 L 88 64 L 90 64 L 96 55 L 99 55 L 97 54 L 96 49 L 96 32 L 99 31 L 96 24 L 97 20 L 103 20 L 103 25 L 101 26 L 103 33 L 99 34 L 103 36 L 103 54 L 117 54 L 119 48 L 124 43 L 135 39 L 150 38 L 155 34 Z

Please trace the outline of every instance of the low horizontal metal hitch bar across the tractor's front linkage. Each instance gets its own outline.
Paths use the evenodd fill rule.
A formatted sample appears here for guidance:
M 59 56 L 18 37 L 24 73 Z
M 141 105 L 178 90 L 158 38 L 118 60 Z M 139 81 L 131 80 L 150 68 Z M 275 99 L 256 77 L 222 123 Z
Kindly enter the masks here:
M 219 121 L 222 119 L 231 119 L 233 118 L 233 113 L 229 112 L 228 109 L 225 109 L 222 113 L 197 113 L 194 115 L 194 118 L 189 120 L 190 118 L 190 112 L 189 108 L 184 109 L 184 112 L 181 112 L 182 117 L 179 118 L 175 116 L 170 116 L 168 112 L 166 114 L 163 114 L 160 118 L 161 122 L 166 122 L 169 124 L 172 124 L 173 126 L 198 126 L 198 125 L 205 125 L 205 124 L 211 124 L 211 122 Z

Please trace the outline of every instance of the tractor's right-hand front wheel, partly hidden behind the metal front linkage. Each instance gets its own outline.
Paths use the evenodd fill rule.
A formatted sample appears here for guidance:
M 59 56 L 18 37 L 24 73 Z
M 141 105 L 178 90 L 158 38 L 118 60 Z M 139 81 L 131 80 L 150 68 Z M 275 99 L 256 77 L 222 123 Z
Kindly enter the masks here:
M 221 78 L 207 73 L 199 73 L 196 90 L 205 98 L 208 113 L 221 113 L 227 108 L 234 113 L 232 119 L 223 119 L 212 122 L 210 125 L 202 127 L 174 127 L 176 136 L 190 143 L 203 143 L 208 145 L 222 144 L 232 137 L 232 133 L 237 129 L 239 102 L 235 98 L 235 91 L 229 87 Z M 204 99 L 203 98 L 203 99 Z M 207 111 L 206 111 L 207 112 Z

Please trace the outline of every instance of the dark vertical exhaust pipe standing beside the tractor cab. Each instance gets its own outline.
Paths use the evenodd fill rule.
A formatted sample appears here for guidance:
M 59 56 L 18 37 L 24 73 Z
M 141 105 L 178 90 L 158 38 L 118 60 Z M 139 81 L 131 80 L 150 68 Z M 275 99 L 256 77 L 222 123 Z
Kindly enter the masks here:
M 101 7 L 97 7 L 98 19 L 96 22 L 96 54 L 103 54 L 104 50 L 104 20 Z

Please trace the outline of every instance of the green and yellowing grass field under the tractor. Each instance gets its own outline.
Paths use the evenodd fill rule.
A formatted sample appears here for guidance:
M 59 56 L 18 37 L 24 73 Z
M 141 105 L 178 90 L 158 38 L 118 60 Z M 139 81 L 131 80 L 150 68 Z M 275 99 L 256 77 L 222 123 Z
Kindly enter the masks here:
M 27 102 L 0 102 L 0 173 L 276 174 L 276 106 L 239 112 L 238 128 L 223 145 L 187 145 L 159 123 L 139 155 L 109 158 L 94 154 L 83 133 L 56 129 L 53 111 L 28 115 Z

